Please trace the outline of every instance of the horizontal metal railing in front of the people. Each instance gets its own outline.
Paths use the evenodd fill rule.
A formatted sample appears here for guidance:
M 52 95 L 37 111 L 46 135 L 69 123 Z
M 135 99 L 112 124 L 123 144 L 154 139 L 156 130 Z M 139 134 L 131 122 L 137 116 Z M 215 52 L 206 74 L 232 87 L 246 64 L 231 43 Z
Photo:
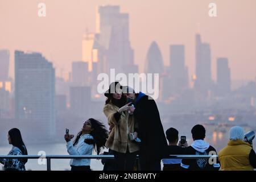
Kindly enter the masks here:
M 170 155 L 169 158 L 209 159 L 218 158 L 218 155 Z M 51 171 L 51 159 L 114 159 L 114 155 L 0 155 L 0 159 L 46 159 L 47 171 Z

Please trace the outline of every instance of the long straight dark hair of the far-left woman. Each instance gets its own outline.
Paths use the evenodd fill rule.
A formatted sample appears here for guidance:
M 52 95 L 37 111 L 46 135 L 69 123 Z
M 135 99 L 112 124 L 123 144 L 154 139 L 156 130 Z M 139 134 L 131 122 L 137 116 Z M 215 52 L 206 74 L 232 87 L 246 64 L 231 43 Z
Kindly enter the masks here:
M 8 134 L 11 138 L 11 144 L 15 147 L 18 147 L 19 150 L 22 152 L 22 155 L 27 155 L 27 148 L 22 140 L 19 129 L 11 129 L 8 131 Z M 27 159 L 21 160 L 24 164 L 27 163 Z

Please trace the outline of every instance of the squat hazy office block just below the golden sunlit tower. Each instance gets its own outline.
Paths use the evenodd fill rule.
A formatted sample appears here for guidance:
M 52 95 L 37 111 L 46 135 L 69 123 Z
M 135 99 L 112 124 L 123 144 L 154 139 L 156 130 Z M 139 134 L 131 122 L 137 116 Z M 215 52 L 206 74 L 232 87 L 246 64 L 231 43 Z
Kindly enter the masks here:
M 72 82 L 75 86 L 89 86 L 88 63 L 77 61 L 72 63 Z

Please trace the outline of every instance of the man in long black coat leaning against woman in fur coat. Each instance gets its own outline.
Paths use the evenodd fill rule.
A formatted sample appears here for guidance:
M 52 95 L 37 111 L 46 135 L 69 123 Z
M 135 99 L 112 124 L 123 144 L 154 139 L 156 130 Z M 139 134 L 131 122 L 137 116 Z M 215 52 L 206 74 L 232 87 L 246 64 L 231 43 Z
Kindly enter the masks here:
M 129 107 L 130 114 L 134 114 L 138 123 L 138 138 L 140 144 L 140 164 L 142 171 L 160 171 L 161 159 L 166 156 L 167 140 L 164 135 L 158 107 L 155 101 L 142 92 L 127 93 L 127 98 L 133 99 L 133 106 Z

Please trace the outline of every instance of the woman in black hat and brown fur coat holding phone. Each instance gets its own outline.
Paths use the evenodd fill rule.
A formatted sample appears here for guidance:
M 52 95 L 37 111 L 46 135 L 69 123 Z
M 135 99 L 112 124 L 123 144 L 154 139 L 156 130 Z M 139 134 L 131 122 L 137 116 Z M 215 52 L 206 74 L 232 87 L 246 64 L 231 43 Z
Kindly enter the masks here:
M 137 151 L 137 133 L 135 132 L 134 117 L 129 114 L 126 98 L 122 94 L 119 82 L 113 82 L 106 91 L 107 97 L 104 114 L 108 118 L 111 130 L 106 147 L 114 152 L 116 170 L 131 171 L 135 165 Z

